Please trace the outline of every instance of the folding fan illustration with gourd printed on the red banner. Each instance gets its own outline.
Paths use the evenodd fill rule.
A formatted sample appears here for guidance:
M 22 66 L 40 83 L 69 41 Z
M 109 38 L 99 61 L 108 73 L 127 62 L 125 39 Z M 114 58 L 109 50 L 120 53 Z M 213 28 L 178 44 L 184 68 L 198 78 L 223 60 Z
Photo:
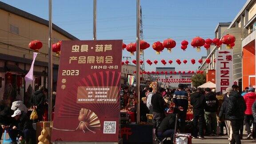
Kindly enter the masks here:
M 96 133 L 94 130 L 103 129 L 100 121 L 103 123 L 104 118 L 113 116 L 118 118 L 119 113 L 116 109 L 120 109 L 120 89 L 118 88 L 120 78 L 120 72 L 107 71 L 93 73 L 77 82 L 64 95 L 65 98 L 60 107 L 56 107 L 58 117 L 76 119 L 78 117 L 77 128 L 70 130 L 66 128 L 53 129 Z

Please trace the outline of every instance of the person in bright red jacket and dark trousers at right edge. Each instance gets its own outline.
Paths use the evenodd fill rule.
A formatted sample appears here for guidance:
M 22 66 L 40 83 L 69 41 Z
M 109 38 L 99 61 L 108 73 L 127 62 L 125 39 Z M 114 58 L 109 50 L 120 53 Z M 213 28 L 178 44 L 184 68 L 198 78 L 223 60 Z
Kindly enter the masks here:
M 251 136 L 253 139 L 256 138 L 256 125 L 254 123 L 254 118 L 252 116 L 252 104 L 256 100 L 256 94 L 255 94 L 255 88 L 249 88 L 248 93 L 244 95 L 244 101 L 246 104 L 246 110 L 245 110 L 245 116 L 244 116 L 244 122 L 245 122 L 245 128 L 248 133 L 247 138 L 250 139 Z M 251 131 L 250 128 L 250 121 L 252 121 L 253 129 Z

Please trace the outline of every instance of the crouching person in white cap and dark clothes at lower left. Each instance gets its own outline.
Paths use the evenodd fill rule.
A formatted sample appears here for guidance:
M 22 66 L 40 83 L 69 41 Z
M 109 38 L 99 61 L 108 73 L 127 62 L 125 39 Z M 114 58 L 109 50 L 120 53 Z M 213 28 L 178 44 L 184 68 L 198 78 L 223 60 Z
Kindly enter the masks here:
M 35 139 L 35 131 L 32 122 L 29 120 L 26 113 L 21 112 L 19 109 L 14 111 L 13 122 L 10 125 L 9 136 L 12 139 L 12 144 L 17 144 L 16 138 L 20 135 L 19 140 L 25 140 L 27 143 Z

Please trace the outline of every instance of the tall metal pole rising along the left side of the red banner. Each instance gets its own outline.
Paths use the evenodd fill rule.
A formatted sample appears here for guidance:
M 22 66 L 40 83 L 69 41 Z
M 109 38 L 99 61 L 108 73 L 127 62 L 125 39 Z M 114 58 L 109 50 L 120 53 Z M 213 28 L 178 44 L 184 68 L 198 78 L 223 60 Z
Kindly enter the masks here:
M 49 0 L 48 120 L 52 121 L 52 0 Z

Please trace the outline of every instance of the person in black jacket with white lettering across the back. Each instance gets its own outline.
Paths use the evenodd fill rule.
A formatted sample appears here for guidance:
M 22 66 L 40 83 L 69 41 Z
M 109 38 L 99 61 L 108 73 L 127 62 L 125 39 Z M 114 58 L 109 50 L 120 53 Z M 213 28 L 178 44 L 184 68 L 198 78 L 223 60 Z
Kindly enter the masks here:
M 206 134 L 217 136 L 217 117 L 219 101 L 216 95 L 210 88 L 205 88 L 205 121 L 206 121 Z

